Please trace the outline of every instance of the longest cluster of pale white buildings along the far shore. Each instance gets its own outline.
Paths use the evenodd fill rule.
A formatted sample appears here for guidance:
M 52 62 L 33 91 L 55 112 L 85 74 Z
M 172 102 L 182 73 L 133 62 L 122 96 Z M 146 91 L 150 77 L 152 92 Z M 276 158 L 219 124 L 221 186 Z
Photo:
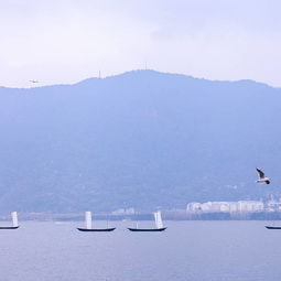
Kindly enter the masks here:
M 281 205 L 280 205 L 281 207 Z M 264 204 L 260 201 L 238 201 L 238 202 L 206 202 L 188 203 L 186 212 L 190 213 L 250 213 L 264 210 Z

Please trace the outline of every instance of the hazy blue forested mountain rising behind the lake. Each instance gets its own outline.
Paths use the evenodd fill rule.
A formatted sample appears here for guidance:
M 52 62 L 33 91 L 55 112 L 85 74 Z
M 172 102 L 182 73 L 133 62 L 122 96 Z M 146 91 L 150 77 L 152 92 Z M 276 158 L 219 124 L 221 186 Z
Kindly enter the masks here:
M 184 208 L 281 194 L 281 89 L 134 71 L 0 88 L 0 212 Z M 256 185 L 255 167 L 272 177 Z

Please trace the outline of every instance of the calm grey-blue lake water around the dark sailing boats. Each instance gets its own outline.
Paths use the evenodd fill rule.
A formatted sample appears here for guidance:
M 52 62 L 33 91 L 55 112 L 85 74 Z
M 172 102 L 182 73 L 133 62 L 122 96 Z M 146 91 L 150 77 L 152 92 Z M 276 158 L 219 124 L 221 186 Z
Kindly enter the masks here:
M 150 234 L 125 230 L 130 223 L 107 234 L 79 233 L 79 225 L 1 230 L 1 280 L 280 280 L 281 230 L 264 221 L 167 221 L 166 231 Z

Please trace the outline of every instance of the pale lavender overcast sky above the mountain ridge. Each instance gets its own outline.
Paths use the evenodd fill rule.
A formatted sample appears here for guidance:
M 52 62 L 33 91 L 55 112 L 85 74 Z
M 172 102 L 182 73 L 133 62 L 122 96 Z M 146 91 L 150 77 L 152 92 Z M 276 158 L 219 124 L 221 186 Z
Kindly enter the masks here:
M 148 68 L 281 87 L 279 0 L 0 0 L 0 85 Z

